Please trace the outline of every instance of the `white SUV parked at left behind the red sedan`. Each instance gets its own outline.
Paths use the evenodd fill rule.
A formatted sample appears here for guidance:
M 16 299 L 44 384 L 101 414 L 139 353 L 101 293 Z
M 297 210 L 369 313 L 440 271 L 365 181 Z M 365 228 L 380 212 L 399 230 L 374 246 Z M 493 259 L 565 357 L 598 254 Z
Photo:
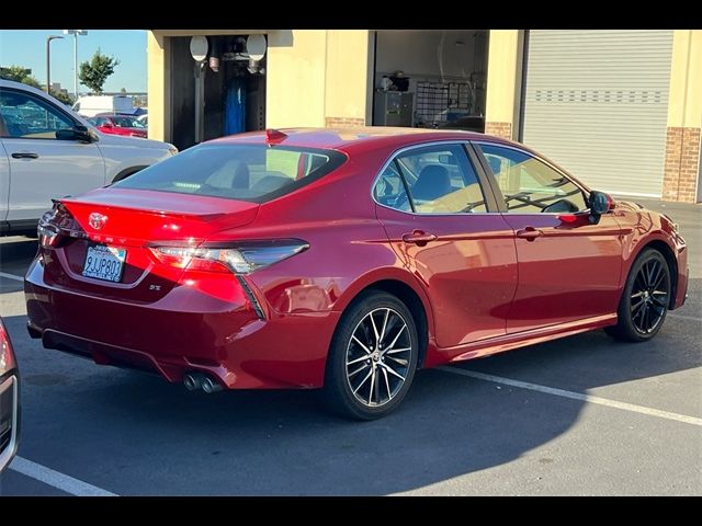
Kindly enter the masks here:
M 0 233 L 35 231 L 52 198 L 104 186 L 177 152 L 168 142 L 101 134 L 43 91 L 0 80 Z

